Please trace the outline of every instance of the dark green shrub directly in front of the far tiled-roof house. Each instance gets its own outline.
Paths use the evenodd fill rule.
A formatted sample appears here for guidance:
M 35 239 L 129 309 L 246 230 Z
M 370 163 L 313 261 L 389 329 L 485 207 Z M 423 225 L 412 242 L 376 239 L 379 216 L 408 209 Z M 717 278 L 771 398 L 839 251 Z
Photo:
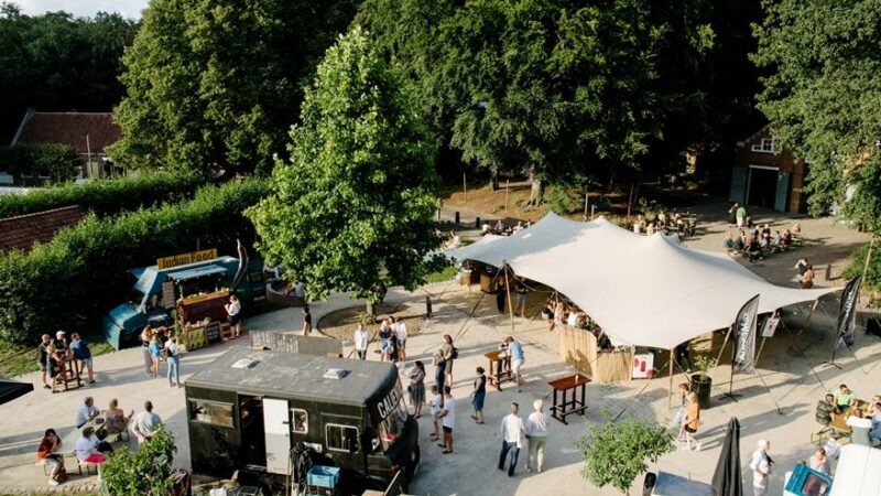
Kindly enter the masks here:
M 48 176 L 56 182 L 73 179 L 79 157 L 67 144 L 15 144 L 0 148 L 0 170 L 12 175 Z

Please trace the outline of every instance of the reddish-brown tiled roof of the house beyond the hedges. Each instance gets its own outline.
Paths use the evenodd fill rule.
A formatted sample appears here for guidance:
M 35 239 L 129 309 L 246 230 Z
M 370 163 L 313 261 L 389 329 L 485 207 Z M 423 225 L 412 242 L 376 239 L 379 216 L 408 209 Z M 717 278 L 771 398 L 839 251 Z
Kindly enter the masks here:
M 17 142 L 69 144 L 77 153 L 104 153 L 122 133 L 110 112 L 29 112 L 24 119 Z

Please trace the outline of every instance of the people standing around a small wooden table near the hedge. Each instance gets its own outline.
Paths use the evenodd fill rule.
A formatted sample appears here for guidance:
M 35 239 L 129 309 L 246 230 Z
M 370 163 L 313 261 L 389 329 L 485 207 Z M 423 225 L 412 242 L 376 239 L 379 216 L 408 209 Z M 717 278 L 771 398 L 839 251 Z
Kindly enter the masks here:
M 79 370 L 86 370 L 88 374 L 88 385 L 95 384 L 95 371 L 91 359 L 91 351 L 88 344 L 83 341 L 77 333 L 70 334 L 67 338 L 65 331 L 55 333 L 55 338 L 48 334 L 41 336 L 40 344 L 37 345 L 37 364 L 41 371 L 41 380 L 44 389 L 51 389 L 52 392 L 58 392 L 56 387 L 58 381 L 62 380 L 67 367 L 75 367 L 79 365 Z M 48 380 L 52 381 L 50 386 Z

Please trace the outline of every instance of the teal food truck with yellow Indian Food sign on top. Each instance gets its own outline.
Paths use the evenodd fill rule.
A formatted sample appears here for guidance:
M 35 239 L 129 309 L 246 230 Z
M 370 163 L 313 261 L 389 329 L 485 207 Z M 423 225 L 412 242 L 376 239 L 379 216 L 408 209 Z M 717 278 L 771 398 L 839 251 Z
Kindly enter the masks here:
M 176 265 L 189 260 L 199 261 Z M 104 319 L 105 339 L 120 349 L 137 344 L 146 325 L 184 328 L 203 321 L 224 321 L 224 304 L 233 292 L 242 308 L 264 299 L 263 261 L 244 257 L 244 263 L 247 267 L 240 267 L 238 258 L 217 257 L 216 250 L 204 250 L 167 257 L 157 260 L 155 266 L 129 270 L 135 279 L 134 287 L 129 301 L 111 310 Z M 242 272 L 241 282 L 236 285 L 233 282 L 239 272 Z M 177 322 L 174 322 L 172 311 Z

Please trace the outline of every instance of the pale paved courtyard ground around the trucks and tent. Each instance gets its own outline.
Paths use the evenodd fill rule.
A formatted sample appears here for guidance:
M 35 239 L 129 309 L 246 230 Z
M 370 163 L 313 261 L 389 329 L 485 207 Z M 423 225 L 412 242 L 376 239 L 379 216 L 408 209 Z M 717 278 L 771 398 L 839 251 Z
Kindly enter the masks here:
M 705 218 L 721 215 L 727 206 L 721 204 L 701 205 Z M 759 213 L 759 219 L 765 216 Z M 786 217 L 770 217 L 772 229 L 775 226 L 791 226 L 794 222 Z M 465 219 L 464 219 L 465 222 Z M 798 250 L 779 255 L 755 265 L 744 262 L 757 273 L 779 284 L 793 284 L 791 267 L 800 257 L 807 256 L 817 270 L 817 285 L 844 284 L 836 279 L 845 267 L 847 255 L 866 237 L 833 223 L 830 219 L 798 219 L 808 242 Z M 701 225 L 700 235 L 686 241 L 687 246 L 720 250 L 726 224 L 709 222 Z M 565 263 L 566 261 L 561 261 Z M 831 280 L 825 279 L 825 266 L 831 265 Z M 589 283 L 587 281 L 586 283 Z M 526 474 L 522 470 L 514 477 L 496 470 L 500 444 L 499 421 L 507 413 L 508 405 L 518 401 L 525 417 L 534 398 L 544 398 L 546 405 L 550 388 L 546 382 L 573 370 L 563 364 L 557 355 L 557 335 L 548 333 L 540 320 L 515 319 L 513 331 L 508 315 L 500 315 L 492 298 L 483 295 L 476 288 L 470 291 L 454 283 L 426 285 L 413 293 L 392 290 L 387 298 L 401 305 L 424 305 L 425 295 L 434 301 L 435 316 L 425 330 L 409 339 L 409 359 L 431 362 L 431 354 L 442 343 L 444 334 L 456 336 L 460 349 L 455 365 L 454 396 L 457 402 L 455 453 L 444 455 L 427 438 L 431 423 L 421 420 L 421 446 L 423 463 L 411 485 L 411 493 L 417 495 L 614 495 L 614 489 L 598 489 L 580 476 L 581 454 L 575 440 L 583 435 L 585 427 L 576 417 L 569 417 L 564 425 L 551 420 L 548 453 L 543 474 Z M 542 294 L 530 295 L 530 313 L 537 312 Z M 313 305 L 314 321 L 318 322 L 329 311 L 354 304 L 344 295 L 329 302 Z M 357 304 L 357 303 L 355 303 Z M 651 470 L 663 470 L 693 479 L 709 482 L 719 456 L 724 429 L 730 417 L 740 419 L 741 453 L 746 457 L 755 441 L 768 439 L 772 443 L 772 456 L 776 462 L 776 473 L 771 478 L 770 494 L 781 494 L 783 473 L 800 459 L 811 455 L 809 435 L 816 429 L 814 406 L 823 393 L 840 382 L 848 384 L 858 397 L 868 398 L 881 393 L 881 341 L 859 334 L 853 353 L 839 353 L 839 370 L 824 366 L 831 352 L 831 314 L 836 302 L 822 305 L 804 325 L 808 304 L 802 305 L 787 319 L 791 332 L 779 332 L 764 346 L 754 375 L 735 376 L 733 388 L 742 393 L 738 402 L 719 399 L 727 390 L 730 368 L 720 365 L 713 371 L 713 408 L 703 412 L 703 425 L 698 439 L 703 441 L 700 452 L 677 451 L 663 456 Z M 825 310 L 824 310 L 825 309 Z M 587 309 L 589 312 L 589 309 Z M 683 319 L 687 319 L 687 302 L 683 304 Z M 246 321 L 246 327 L 253 332 L 292 331 L 302 326 L 298 310 L 280 310 Z M 733 319 L 733 315 L 731 316 Z M 804 331 L 803 331 L 804 330 Z M 478 425 L 468 417 L 474 369 L 485 365 L 483 353 L 494 349 L 500 339 L 513 334 L 524 344 L 526 384 L 523 392 L 516 393 L 510 385 L 501 392 L 490 389 L 486 402 L 487 423 Z M 215 357 L 235 346 L 247 346 L 247 337 L 228 342 L 211 348 L 195 351 L 183 358 L 184 378 L 210 363 Z M 348 348 L 347 344 L 347 348 Z M 378 355 L 370 354 L 370 359 Z M 725 362 L 725 360 L 722 360 Z M 94 396 L 100 408 L 106 408 L 111 398 L 118 398 L 126 409 L 140 411 L 144 400 L 155 405 L 177 438 L 178 452 L 175 465 L 188 467 L 189 446 L 186 430 L 183 389 L 170 389 L 164 378 L 152 379 L 144 375 L 140 349 L 126 349 L 95 359 L 98 384 L 89 389 L 51 395 L 39 388 L 35 374 L 19 379 L 32 381 L 37 388 L 15 401 L 0 406 L 0 493 L 47 489 L 43 471 L 34 466 L 34 451 L 42 432 L 54 427 L 64 435 L 70 429 L 75 409 L 86 395 Z M 661 365 L 661 364 L 659 364 Z M 410 364 L 407 365 L 407 367 Z M 429 367 L 431 368 L 431 367 Z M 429 370 L 429 377 L 433 370 Z M 676 382 L 684 380 L 678 376 Z M 406 381 L 404 381 L 406 384 Z M 634 380 L 612 385 L 589 385 L 586 419 L 599 421 L 602 412 L 612 417 L 634 417 L 667 422 L 675 410 L 667 409 L 667 377 L 652 380 Z M 134 446 L 132 446 L 134 448 Z M 523 456 L 521 456 L 523 460 Z M 522 467 L 523 464 L 521 463 Z M 744 471 L 744 483 L 749 487 L 750 474 Z M 76 488 L 94 483 L 94 476 L 74 475 L 70 482 L 59 488 Z M 642 479 L 635 481 L 631 494 L 640 494 Z M 750 494 L 749 489 L 744 494 Z

